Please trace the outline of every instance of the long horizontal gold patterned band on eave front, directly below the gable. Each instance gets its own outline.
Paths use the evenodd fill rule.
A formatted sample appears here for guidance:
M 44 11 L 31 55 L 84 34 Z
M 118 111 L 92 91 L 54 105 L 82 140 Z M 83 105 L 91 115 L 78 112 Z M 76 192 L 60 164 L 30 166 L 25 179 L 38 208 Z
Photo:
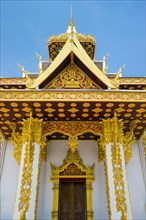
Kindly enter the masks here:
M 2 90 L 1 101 L 112 101 L 112 102 L 145 102 L 145 91 L 18 91 Z

